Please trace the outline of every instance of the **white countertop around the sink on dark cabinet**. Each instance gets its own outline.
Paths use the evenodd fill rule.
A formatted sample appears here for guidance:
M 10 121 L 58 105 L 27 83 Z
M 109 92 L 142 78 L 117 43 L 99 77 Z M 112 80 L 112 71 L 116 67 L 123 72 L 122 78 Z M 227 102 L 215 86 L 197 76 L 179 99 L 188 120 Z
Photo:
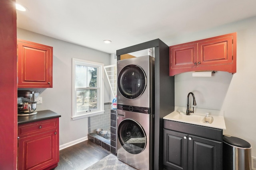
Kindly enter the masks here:
M 189 120 L 190 117 L 188 116 L 191 116 L 191 115 L 186 115 L 186 109 L 187 109 L 186 107 L 175 106 L 174 111 L 166 115 L 165 117 L 163 117 L 163 119 L 179 121 L 183 123 L 190 123 L 194 125 L 201 125 L 206 127 L 214 127 L 218 129 L 226 129 L 226 125 L 224 121 L 224 111 L 194 108 L 194 113 L 190 113 L 192 116 L 198 115 L 198 117 L 202 118 L 206 115 L 206 113 L 209 113 L 209 116 L 213 117 L 212 123 L 203 123 L 202 121 Z M 192 108 L 190 108 L 190 110 L 192 110 Z M 177 117 L 178 114 L 182 114 L 183 117 L 185 118 L 187 117 L 188 119 L 179 119 Z

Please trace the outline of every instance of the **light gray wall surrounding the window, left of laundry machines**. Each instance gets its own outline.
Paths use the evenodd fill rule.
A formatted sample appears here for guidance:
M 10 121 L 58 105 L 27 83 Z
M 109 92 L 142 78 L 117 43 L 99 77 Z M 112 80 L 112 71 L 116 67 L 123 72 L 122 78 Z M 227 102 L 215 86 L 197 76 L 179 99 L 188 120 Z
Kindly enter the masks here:
M 17 37 L 53 47 L 53 88 L 30 89 L 40 92 L 42 104 L 37 110 L 50 109 L 61 114 L 60 145 L 87 137 L 88 118 L 72 120 L 72 58 L 110 65 L 110 54 L 82 47 L 37 33 L 17 29 Z M 104 73 L 104 103 L 112 102 L 110 88 Z

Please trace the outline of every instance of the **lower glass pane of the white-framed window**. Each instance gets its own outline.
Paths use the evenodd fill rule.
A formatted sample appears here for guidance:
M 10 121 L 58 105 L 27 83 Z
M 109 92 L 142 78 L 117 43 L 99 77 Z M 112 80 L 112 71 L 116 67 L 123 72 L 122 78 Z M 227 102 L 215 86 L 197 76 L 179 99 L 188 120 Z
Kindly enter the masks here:
M 76 90 L 76 112 L 97 109 L 97 89 Z

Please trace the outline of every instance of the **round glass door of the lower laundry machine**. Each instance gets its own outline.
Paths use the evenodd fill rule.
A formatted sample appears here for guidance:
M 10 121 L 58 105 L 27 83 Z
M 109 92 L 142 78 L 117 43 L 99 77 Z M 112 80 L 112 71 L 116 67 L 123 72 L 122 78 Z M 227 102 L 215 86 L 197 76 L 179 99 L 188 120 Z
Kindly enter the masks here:
M 139 154 L 146 147 L 146 134 L 141 125 L 132 120 L 124 119 L 118 126 L 118 139 L 122 147 L 131 154 Z

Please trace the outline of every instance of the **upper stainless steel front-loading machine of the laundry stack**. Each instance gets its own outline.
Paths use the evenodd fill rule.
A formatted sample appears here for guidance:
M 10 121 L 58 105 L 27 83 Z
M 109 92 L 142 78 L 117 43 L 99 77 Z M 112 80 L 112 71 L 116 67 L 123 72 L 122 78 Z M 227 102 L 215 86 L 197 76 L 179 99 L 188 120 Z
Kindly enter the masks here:
M 117 75 L 117 104 L 145 108 L 154 106 L 153 57 L 147 55 L 117 61 Z

